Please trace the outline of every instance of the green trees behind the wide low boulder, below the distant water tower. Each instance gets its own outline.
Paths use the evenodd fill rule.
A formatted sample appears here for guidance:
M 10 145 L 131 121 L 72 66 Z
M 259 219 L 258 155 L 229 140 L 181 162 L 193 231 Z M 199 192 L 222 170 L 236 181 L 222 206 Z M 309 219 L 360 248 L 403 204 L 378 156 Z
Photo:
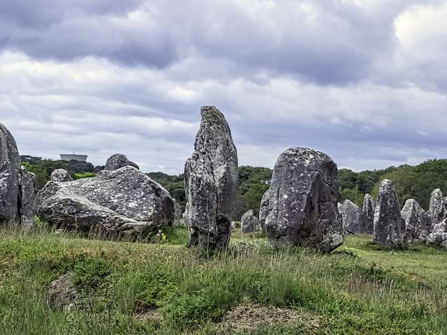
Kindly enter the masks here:
M 103 167 L 92 165 L 87 162 L 78 161 L 53 161 L 51 159 L 42 159 L 41 157 L 20 156 L 22 165 L 29 172 L 36 174 L 38 188 L 41 189 L 47 181 L 50 180 L 51 172 L 57 169 L 67 170 L 73 179 L 93 177 L 96 172 L 101 171 Z

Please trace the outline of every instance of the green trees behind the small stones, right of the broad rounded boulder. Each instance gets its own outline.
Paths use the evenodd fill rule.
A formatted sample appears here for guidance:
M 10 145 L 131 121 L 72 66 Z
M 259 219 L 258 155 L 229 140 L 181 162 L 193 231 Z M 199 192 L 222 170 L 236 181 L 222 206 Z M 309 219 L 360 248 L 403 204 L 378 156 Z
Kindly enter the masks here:
M 349 199 L 361 207 L 365 193 L 377 196 L 383 179 L 393 181 L 401 206 L 414 198 L 427 210 L 430 193 L 435 188 L 447 192 L 447 159 L 432 159 L 416 166 L 401 165 L 385 170 L 353 172 L 340 169 L 339 201 Z

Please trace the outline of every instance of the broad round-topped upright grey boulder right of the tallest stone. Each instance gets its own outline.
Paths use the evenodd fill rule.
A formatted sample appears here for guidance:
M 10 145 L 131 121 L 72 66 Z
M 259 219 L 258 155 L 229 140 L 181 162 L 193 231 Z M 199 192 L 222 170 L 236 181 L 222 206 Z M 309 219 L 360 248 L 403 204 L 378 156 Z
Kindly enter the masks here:
M 337 165 L 329 156 L 299 147 L 284 151 L 274 165 L 265 201 L 269 244 L 326 252 L 342 245 L 337 191 Z

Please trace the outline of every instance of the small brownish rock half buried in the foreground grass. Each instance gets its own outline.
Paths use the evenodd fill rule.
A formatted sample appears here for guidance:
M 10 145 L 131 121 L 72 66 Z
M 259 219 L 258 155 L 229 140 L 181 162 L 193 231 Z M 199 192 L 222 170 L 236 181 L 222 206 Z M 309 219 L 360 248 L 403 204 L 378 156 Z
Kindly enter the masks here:
M 70 311 L 80 301 L 79 292 L 73 284 L 73 274 L 64 274 L 50 283 L 48 288 L 50 306 Z

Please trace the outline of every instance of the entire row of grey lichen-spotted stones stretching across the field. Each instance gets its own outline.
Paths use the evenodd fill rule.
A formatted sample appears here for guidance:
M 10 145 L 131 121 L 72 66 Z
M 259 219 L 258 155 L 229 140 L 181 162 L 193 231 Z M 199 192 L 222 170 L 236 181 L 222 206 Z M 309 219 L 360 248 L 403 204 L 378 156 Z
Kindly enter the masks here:
M 37 214 L 55 228 L 135 241 L 183 220 L 190 246 L 225 248 L 238 185 L 237 150 L 216 107 L 202 107 L 201 117 L 184 168 L 183 215 L 168 191 L 122 154 L 111 156 L 96 177 L 73 180 L 65 170 L 55 170 L 35 195 L 34 174 L 21 167 L 15 140 L 0 124 L 0 222 L 29 228 Z M 344 234 L 374 234 L 374 242 L 382 246 L 426 241 L 447 247 L 445 204 L 441 191 L 435 190 L 427 213 L 415 200 L 408 200 L 401 211 L 389 180 L 381 183 L 376 202 L 365 195 L 362 209 L 349 200 L 339 204 L 335 162 L 320 151 L 295 147 L 279 156 L 259 219 L 248 211 L 242 216 L 242 231 L 262 230 L 274 247 L 310 246 L 324 252 L 342 245 Z

